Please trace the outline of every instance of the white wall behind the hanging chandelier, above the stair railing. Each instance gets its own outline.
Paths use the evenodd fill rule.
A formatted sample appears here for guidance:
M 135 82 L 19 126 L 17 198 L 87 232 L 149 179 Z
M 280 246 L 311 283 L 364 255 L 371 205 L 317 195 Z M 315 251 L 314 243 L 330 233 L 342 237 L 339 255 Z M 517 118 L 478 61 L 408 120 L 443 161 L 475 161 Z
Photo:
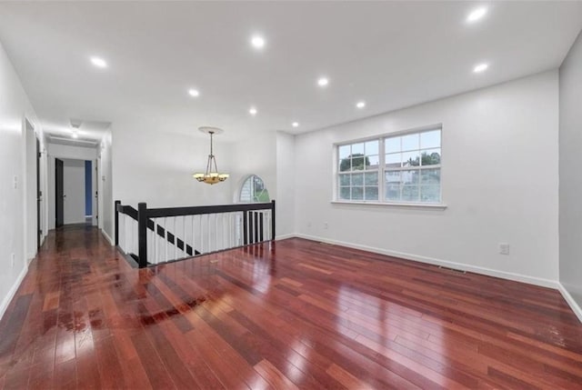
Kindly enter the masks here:
M 161 131 L 164 129 L 164 131 Z M 210 138 L 172 133 L 155 118 L 144 123 L 115 123 L 113 129 L 113 198 L 124 205 L 148 207 L 224 205 L 232 203 L 231 179 L 217 185 L 192 177 L 204 172 Z M 195 136 L 196 135 L 196 136 Z M 218 169 L 230 172 L 230 146 L 215 137 Z

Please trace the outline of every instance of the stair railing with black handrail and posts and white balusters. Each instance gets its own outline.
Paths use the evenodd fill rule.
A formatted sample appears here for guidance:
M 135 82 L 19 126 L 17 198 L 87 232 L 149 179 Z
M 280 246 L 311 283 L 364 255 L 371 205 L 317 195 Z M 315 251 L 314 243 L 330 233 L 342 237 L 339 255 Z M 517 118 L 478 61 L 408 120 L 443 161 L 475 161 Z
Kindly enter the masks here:
M 275 239 L 275 201 L 137 210 L 115 201 L 115 245 L 146 267 Z

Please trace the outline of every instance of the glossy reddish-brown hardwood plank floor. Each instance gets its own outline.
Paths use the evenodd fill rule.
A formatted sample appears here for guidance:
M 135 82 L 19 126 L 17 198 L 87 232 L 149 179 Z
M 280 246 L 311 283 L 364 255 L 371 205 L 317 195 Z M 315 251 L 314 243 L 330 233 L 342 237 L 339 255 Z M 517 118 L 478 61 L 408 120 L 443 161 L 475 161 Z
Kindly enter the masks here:
M 53 232 L 0 323 L 0 388 L 582 388 L 557 291 L 302 239 L 137 270 Z

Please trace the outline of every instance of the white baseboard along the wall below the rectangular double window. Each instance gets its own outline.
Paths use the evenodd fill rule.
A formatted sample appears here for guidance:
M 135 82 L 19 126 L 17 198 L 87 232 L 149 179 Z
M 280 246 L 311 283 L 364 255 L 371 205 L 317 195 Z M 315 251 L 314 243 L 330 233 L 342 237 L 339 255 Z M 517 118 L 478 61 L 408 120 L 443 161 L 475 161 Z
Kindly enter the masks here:
M 455 262 L 441 260 L 441 259 L 437 259 L 437 258 L 433 258 L 433 257 L 406 254 L 404 252 L 390 251 L 390 250 L 386 250 L 386 249 L 382 249 L 382 248 L 376 248 L 373 246 L 346 243 L 344 241 L 331 240 L 328 238 L 317 237 L 315 235 L 296 234 L 295 236 L 300 237 L 300 238 L 306 238 L 307 240 L 320 241 L 320 242 L 327 243 L 327 244 L 342 245 L 342 246 L 347 246 L 348 248 L 361 249 L 363 251 L 373 252 L 373 253 L 380 254 L 380 255 L 389 255 L 389 256 L 393 256 L 393 257 L 399 257 L 399 258 L 403 258 L 406 260 L 412 260 L 412 261 L 417 261 L 420 263 L 427 263 L 427 264 L 432 264 L 432 265 L 442 265 L 442 266 L 446 266 L 448 268 L 454 268 L 454 269 L 459 269 L 462 271 L 473 272 L 475 274 L 480 274 L 480 275 L 495 276 L 495 277 L 499 277 L 502 279 L 527 283 L 529 285 L 540 285 L 542 287 L 554 288 L 556 290 L 558 289 L 558 286 L 559 286 L 559 283 L 557 281 L 550 280 L 550 279 L 543 279 L 543 278 L 534 277 L 534 276 L 514 274 L 511 272 L 505 272 L 505 271 L 498 271 L 495 269 L 480 267 L 480 266 L 476 266 L 476 265 L 466 265 L 466 264 L 462 264 L 462 263 L 455 263 Z

